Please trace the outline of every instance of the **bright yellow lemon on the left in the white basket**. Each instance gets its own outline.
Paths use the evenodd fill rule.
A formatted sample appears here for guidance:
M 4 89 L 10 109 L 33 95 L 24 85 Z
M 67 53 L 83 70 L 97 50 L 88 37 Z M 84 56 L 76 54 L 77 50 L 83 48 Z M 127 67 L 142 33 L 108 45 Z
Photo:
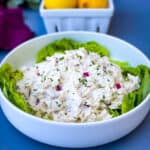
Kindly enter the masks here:
M 77 0 L 45 0 L 44 7 L 46 9 L 57 9 L 57 8 L 76 8 Z

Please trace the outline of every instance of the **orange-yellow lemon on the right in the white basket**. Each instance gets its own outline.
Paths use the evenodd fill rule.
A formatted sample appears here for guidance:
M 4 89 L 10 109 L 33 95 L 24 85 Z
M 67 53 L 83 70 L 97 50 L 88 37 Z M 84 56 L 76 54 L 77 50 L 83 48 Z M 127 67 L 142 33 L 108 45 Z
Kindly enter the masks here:
M 108 0 L 78 0 L 79 8 L 107 8 Z

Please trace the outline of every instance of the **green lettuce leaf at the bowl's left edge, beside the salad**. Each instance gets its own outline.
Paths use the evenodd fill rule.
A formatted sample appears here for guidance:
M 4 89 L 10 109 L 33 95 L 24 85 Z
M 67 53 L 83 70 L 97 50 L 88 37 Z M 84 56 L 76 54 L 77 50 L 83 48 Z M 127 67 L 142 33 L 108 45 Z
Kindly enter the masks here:
M 9 64 L 4 64 L 0 67 L 0 87 L 4 95 L 18 108 L 31 113 L 31 108 L 16 90 L 16 82 L 21 80 L 22 77 L 22 72 L 18 70 L 14 71 Z

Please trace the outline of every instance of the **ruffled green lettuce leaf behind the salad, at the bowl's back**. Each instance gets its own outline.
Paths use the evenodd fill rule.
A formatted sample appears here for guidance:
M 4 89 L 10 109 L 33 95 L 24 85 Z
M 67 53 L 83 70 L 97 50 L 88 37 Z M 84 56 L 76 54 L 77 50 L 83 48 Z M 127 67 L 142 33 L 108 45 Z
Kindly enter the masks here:
M 55 53 L 64 53 L 65 50 L 72 50 L 72 49 L 78 49 L 84 47 L 89 52 L 96 52 L 100 56 L 109 56 L 109 51 L 102 45 L 90 41 L 87 43 L 81 43 L 74 41 L 72 39 L 63 38 L 57 41 L 54 41 L 53 43 L 48 44 L 39 52 L 36 56 L 36 62 L 40 63 L 46 59 L 47 56 L 52 56 Z

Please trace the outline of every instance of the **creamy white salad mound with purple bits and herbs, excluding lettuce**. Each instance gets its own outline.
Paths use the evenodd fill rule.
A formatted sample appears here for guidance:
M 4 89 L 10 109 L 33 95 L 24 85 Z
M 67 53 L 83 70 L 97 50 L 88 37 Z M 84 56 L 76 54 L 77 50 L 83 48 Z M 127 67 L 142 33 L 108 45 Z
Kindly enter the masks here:
M 56 53 L 33 66 L 23 66 L 17 91 L 36 115 L 63 122 L 112 118 L 123 97 L 139 88 L 139 77 L 124 78 L 119 66 L 85 48 Z M 41 113 L 42 112 L 42 113 Z

